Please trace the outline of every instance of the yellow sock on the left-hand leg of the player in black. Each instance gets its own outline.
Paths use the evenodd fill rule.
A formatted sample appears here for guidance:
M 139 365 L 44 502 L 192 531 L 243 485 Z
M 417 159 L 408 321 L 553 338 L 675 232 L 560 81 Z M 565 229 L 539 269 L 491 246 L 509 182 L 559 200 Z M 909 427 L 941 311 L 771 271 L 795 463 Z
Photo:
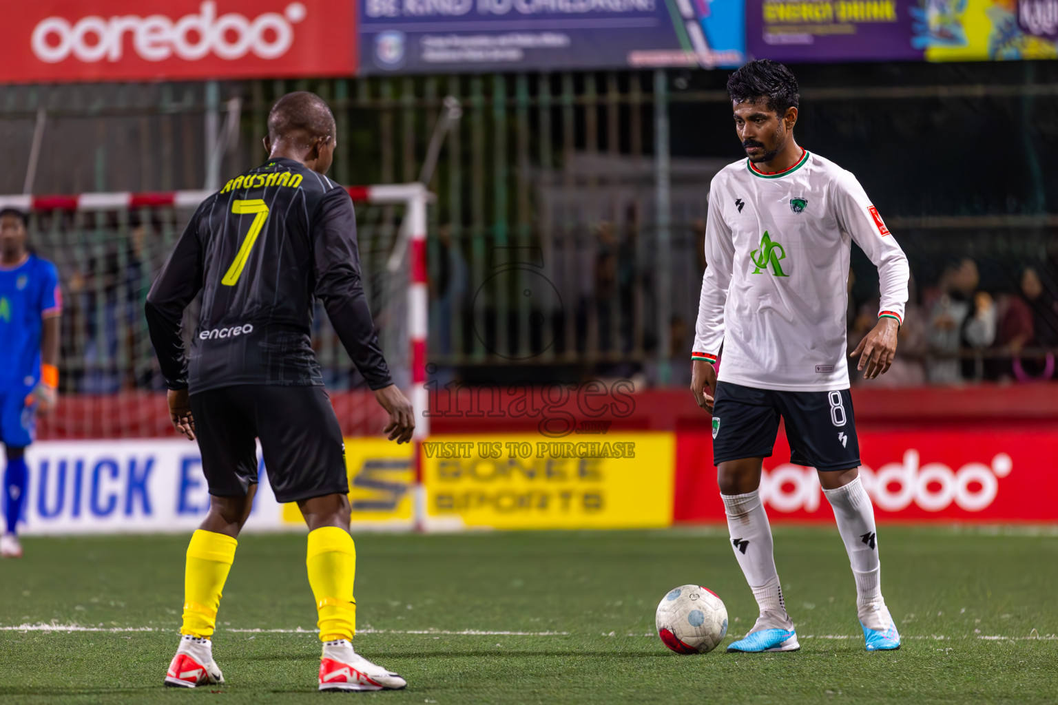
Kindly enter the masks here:
M 231 536 L 197 530 L 187 544 L 184 571 L 184 625 L 181 634 L 208 638 L 217 626 L 220 591 L 235 560 L 238 541 Z

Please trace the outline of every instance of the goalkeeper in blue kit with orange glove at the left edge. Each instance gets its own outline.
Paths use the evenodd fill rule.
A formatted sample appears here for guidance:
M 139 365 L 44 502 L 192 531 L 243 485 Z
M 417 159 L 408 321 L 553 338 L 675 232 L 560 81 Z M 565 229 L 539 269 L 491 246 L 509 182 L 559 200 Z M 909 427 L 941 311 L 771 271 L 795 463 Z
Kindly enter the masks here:
M 25 503 L 25 448 L 33 443 L 36 416 L 51 411 L 59 373 L 59 316 L 62 296 L 55 265 L 26 246 L 26 217 L 0 210 L 0 440 L 5 531 L 0 557 L 20 558 L 18 522 Z

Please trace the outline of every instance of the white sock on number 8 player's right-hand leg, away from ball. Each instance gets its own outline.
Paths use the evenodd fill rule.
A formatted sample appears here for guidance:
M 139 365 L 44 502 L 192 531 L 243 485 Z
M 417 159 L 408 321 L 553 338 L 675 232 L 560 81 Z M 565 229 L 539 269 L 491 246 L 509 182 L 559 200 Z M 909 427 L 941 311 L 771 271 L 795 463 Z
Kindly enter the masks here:
M 860 614 L 884 605 L 881 598 L 881 563 L 874 525 L 874 506 L 859 478 L 837 489 L 824 489 L 834 508 L 838 532 L 845 542 L 849 562 L 856 578 L 856 607 Z M 870 626 L 870 625 L 869 625 Z

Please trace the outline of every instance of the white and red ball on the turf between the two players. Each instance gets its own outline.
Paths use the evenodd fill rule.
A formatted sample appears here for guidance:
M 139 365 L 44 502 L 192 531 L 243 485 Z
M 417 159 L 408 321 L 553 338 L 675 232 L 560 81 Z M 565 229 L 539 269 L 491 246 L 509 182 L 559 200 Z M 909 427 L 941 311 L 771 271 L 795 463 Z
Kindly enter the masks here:
M 661 642 L 676 653 L 706 653 L 727 634 L 727 608 L 709 588 L 680 586 L 661 599 L 655 624 Z

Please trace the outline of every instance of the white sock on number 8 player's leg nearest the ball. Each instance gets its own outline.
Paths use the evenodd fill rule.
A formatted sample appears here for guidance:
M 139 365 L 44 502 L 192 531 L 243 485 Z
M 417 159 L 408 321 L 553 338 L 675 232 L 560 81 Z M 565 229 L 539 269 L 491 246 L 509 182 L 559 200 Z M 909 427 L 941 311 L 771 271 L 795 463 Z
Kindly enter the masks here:
M 785 616 L 786 604 L 772 553 L 771 525 L 761 504 L 760 491 L 720 495 L 720 499 L 724 500 L 734 557 L 753 591 L 758 607 L 761 612 L 770 610 Z

